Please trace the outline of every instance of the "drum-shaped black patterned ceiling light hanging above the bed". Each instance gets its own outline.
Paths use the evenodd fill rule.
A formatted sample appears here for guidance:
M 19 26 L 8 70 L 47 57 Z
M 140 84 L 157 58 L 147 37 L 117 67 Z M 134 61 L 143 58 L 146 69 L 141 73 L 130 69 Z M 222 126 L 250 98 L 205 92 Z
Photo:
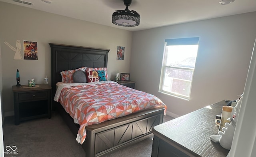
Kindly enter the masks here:
M 140 14 L 138 12 L 128 9 L 132 0 L 124 0 L 124 5 L 126 5 L 125 10 L 116 10 L 112 14 L 112 23 L 118 26 L 124 27 L 134 27 L 140 24 Z

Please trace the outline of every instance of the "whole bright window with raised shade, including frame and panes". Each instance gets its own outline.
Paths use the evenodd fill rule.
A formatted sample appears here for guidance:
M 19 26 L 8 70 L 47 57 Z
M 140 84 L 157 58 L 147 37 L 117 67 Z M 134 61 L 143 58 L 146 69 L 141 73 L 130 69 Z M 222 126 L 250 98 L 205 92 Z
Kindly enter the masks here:
M 199 38 L 165 40 L 159 91 L 190 99 Z

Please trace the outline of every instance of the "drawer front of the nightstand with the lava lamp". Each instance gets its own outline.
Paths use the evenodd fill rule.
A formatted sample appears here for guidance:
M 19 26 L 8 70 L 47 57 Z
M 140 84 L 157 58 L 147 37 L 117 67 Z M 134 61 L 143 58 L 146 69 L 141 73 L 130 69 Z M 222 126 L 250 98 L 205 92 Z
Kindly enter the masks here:
M 47 98 L 48 98 L 48 91 L 19 93 L 19 101 L 31 100 L 31 99 L 47 99 Z

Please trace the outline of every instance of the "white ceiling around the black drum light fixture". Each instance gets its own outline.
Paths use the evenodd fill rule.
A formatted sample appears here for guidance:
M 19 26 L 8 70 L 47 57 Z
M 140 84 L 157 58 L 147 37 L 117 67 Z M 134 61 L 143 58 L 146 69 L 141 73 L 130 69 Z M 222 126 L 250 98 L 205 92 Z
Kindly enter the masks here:
M 112 14 L 125 9 L 123 0 L 49 0 L 51 4 L 24 0 L 32 6 L 0 1 L 130 31 L 256 11 L 256 0 L 235 0 L 227 5 L 219 4 L 220 0 L 132 0 L 128 8 L 140 14 L 140 25 L 122 27 L 112 24 Z

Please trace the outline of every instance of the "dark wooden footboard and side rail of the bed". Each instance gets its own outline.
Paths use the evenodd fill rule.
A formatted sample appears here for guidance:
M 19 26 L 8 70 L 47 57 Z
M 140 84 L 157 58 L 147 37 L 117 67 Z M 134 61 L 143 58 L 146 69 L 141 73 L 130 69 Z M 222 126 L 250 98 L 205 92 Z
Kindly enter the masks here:
M 79 125 L 60 104 L 58 106 L 60 115 L 76 137 Z M 86 157 L 102 157 L 152 136 L 152 127 L 162 123 L 163 115 L 164 107 L 158 107 L 87 126 L 86 140 L 82 144 Z

